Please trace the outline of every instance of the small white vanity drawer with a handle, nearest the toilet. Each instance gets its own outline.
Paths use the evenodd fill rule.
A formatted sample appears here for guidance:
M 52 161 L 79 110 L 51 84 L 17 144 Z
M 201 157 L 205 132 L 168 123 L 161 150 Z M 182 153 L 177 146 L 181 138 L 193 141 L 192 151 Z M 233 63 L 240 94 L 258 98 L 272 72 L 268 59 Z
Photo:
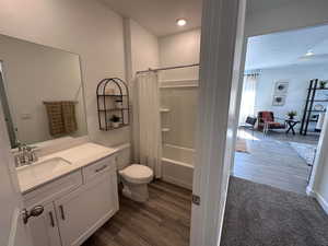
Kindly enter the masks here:
M 115 156 L 105 157 L 90 166 L 86 166 L 82 169 L 83 180 L 87 183 L 89 180 L 93 179 L 97 175 L 107 172 L 108 169 L 116 171 L 116 161 Z

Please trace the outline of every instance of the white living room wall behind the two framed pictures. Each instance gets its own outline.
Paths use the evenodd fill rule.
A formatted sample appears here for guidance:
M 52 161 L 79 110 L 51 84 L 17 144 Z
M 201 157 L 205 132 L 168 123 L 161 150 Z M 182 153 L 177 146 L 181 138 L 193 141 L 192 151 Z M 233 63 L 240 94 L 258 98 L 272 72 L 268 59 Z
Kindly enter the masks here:
M 312 79 L 327 80 L 327 66 L 289 66 L 261 70 L 256 91 L 256 115 L 260 110 L 270 110 L 274 113 L 274 116 L 285 118 L 288 112 L 296 110 L 297 117 L 301 118 L 304 110 L 309 80 Z M 272 96 L 274 94 L 274 84 L 277 81 L 289 82 L 289 91 L 284 106 L 272 106 Z M 317 98 L 319 98 L 319 96 L 323 96 L 320 98 L 324 98 L 324 95 L 319 95 L 320 92 L 317 94 Z

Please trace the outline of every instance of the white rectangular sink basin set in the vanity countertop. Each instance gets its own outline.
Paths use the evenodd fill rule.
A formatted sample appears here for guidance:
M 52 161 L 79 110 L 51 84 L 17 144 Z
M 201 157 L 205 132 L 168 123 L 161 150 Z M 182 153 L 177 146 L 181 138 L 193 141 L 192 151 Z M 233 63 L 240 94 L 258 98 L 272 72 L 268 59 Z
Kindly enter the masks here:
M 46 181 L 65 172 L 71 165 L 61 157 L 52 157 L 39 161 L 31 165 L 17 167 L 17 176 L 21 185 Z

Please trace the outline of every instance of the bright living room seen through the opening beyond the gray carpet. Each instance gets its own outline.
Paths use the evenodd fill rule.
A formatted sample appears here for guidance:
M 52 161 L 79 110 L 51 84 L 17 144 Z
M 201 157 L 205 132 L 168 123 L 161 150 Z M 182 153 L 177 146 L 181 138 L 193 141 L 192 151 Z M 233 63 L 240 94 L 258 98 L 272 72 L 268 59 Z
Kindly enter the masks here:
M 248 38 L 234 175 L 306 192 L 328 103 L 328 26 Z

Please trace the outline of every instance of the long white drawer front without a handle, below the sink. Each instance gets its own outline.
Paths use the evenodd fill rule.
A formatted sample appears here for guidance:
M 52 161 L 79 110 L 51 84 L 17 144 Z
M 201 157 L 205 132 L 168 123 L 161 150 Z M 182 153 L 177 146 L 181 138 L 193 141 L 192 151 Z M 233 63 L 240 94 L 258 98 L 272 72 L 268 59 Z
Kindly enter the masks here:
M 72 191 L 82 185 L 81 169 L 49 181 L 23 195 L 24 203 L 27 208 L 46 204 L 49 201 Z

